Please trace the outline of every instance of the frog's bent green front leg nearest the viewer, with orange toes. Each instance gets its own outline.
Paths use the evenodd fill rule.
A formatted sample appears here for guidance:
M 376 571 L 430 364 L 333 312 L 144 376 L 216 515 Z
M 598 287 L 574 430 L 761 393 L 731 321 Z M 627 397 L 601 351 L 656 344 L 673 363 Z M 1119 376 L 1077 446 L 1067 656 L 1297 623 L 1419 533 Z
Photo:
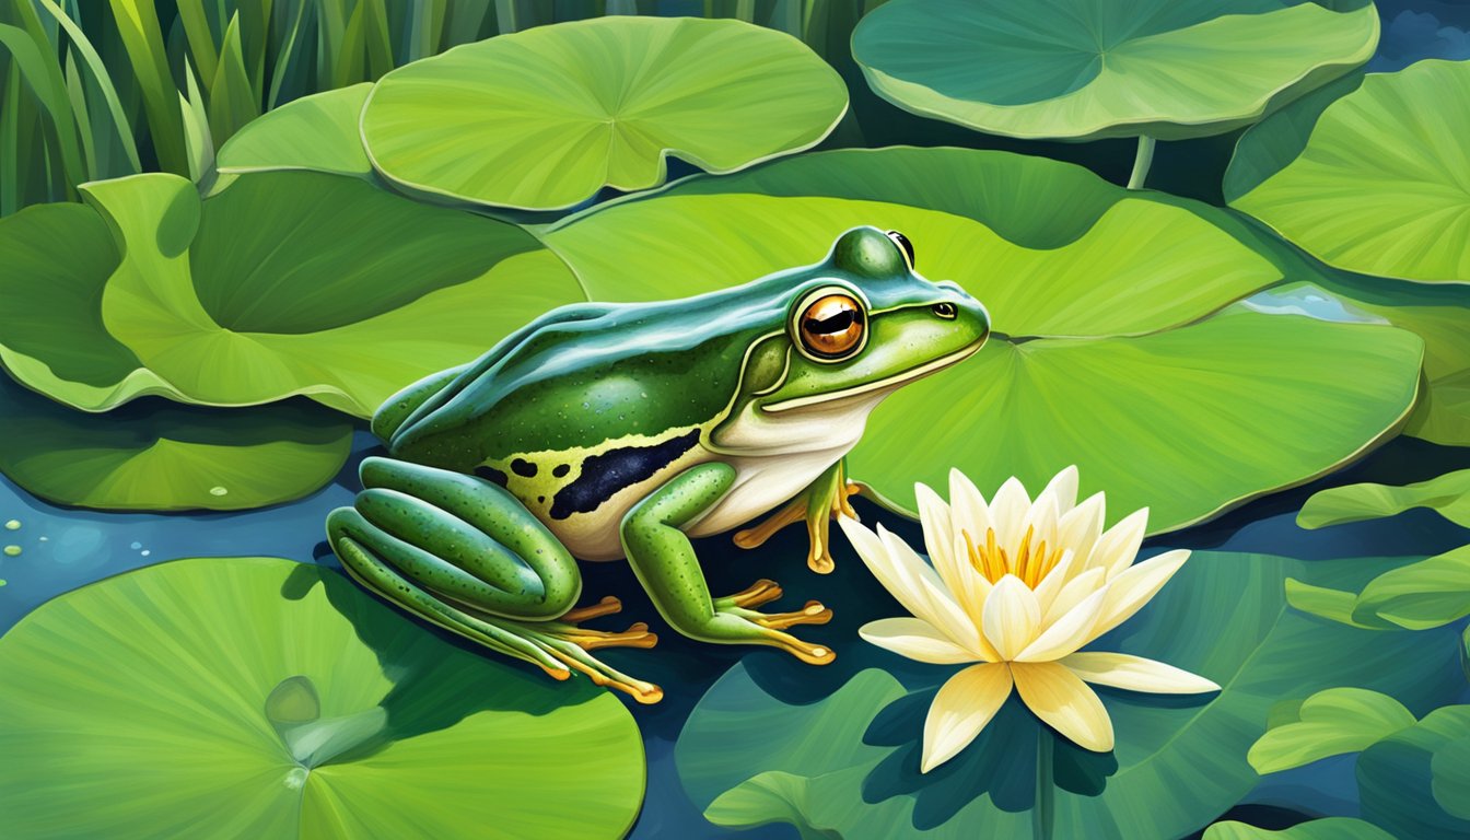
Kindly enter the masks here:
M 832 662 L 831 649 L 784 631 L 795 624 L 826 624 L 832 611 L 820 603 L 808 602 L 786 613 L 750 609 L 781 596 L 772 581 L 760 581 L 735 596 L 710 597 L 694 546 L 681 528 L 713 508 L 734 483 L 735 468 L 703 463 L 681 472 L 634 506 L 622 522 L 623 550 L 634 574 L 664 621 L 691 638 L 769 644 L 811 665 Z

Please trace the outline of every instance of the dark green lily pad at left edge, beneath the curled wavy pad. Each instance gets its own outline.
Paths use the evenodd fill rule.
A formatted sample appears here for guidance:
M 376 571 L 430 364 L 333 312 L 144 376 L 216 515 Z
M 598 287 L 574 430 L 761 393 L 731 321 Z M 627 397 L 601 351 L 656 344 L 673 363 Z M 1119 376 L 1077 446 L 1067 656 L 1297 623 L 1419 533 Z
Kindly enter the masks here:
M 312 403 L 210 410 L 150 400 L 98 416 L 0 380 L 0 472 L 56 505 L 262 508 L 315 493 L 351 450 L 351 424 Z

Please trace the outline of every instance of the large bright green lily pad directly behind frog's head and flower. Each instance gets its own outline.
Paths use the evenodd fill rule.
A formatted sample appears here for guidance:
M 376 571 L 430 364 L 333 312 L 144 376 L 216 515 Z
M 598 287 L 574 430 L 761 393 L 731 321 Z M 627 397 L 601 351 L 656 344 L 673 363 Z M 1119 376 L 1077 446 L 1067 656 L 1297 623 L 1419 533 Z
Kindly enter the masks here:
M 753 194 L 773 184 L 784 194 Z M 1151 506 L 1163 531 L 1324 474 L 1402 421 L 1419 338 L 1219 313 L 1277 269 L 1214 224 L 1233 219 L 1135 196 L 998 152 L 833 152 L 694 178 L 544 241 L 594 299 L 653 300 L 817 262 L 854 225 L 904 231 L 919 271 L 960 282 L 995 328 L 979 356 L 879 407 L 851 456 L 906 510 L 914 481 L 941 485 L 951 466 L 994 488 L 1076 463 L 1085 493 L 1105 488 L 1114 513 Z

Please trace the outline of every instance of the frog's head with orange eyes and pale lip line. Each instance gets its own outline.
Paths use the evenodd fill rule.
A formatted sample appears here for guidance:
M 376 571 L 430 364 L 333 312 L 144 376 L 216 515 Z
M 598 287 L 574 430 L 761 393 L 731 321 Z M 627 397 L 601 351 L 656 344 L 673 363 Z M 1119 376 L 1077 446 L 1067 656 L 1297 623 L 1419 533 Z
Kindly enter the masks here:
M 791 284 L 785 332 L 761 350 L 779 353 L 785 375 L 750 393 L 767 413 L 876 405 L 975 355 L 989 335 L 985 306 L 956 282 L 916 274 L 914 247 L 897 231 L 847 231 L 823 262 L 784 278 Z

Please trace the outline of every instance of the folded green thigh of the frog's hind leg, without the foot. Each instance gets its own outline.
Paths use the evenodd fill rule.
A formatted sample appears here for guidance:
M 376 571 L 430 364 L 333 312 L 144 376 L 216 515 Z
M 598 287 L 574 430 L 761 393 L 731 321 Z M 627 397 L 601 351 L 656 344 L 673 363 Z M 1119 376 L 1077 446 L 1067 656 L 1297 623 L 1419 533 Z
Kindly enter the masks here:
M 551 619 L 576 603 L 576 559 L 504 488 L 387 458 L 360 472 L 354 506 L 328 521 L 334 543 L 347 537 L 410 583 L 491 615 Z

